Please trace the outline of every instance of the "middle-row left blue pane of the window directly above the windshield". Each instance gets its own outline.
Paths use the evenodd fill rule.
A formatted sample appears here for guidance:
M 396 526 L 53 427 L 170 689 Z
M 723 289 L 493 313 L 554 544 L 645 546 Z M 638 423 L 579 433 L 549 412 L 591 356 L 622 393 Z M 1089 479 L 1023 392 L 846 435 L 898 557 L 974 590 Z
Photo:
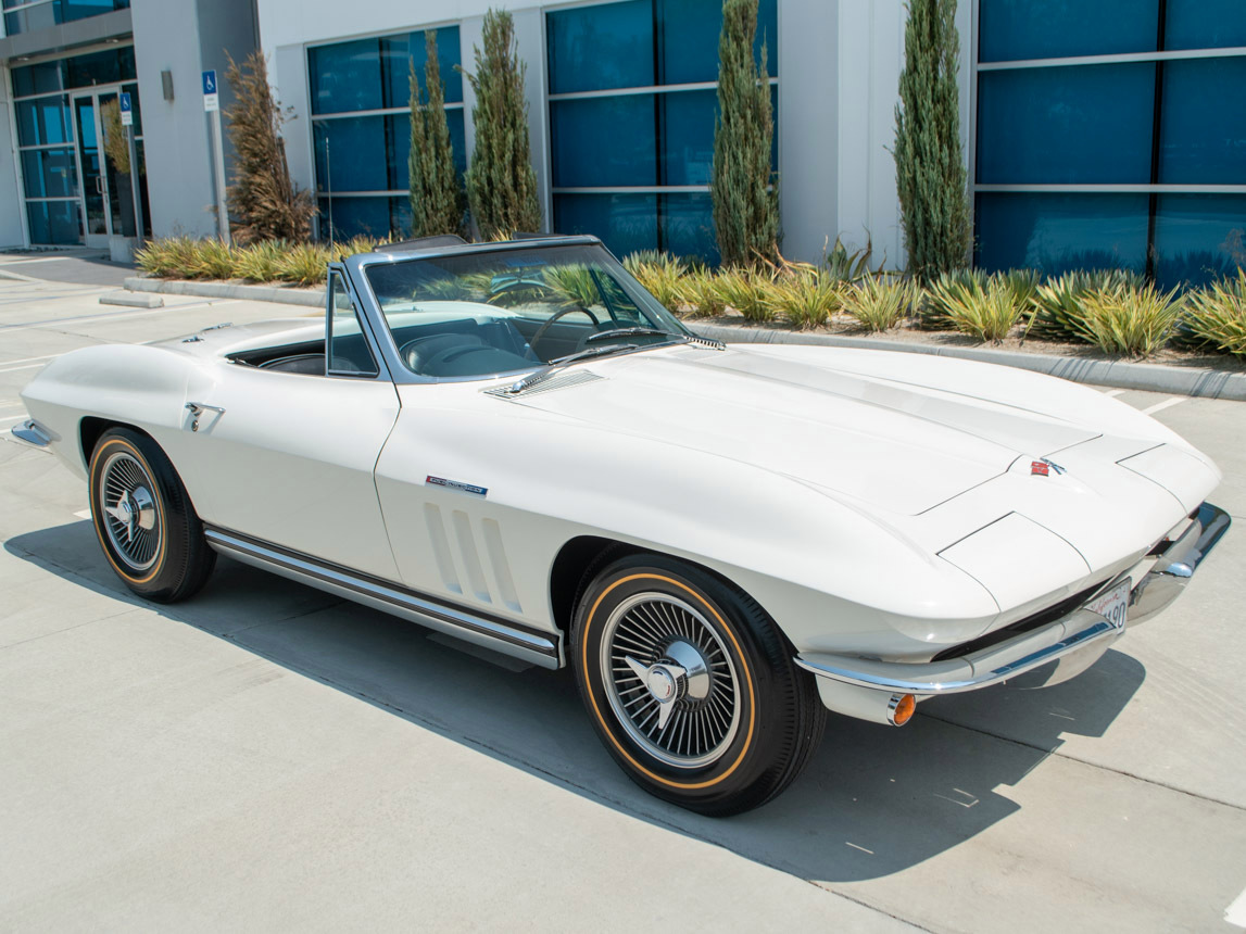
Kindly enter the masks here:
M 653 95 L 551 101 L 554 186 L 657 184 L 653 107 Z

